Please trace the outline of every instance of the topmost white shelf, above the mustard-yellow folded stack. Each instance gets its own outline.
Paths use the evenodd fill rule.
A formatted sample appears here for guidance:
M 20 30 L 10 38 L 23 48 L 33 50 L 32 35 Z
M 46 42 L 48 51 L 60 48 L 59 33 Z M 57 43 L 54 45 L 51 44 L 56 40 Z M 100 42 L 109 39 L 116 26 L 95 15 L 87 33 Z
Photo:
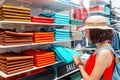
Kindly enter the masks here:
M 1 1 L 2 2 L 2 1 Z M 78 5 L 66 3 L 60 0 L 4 0 L 1 5 L 37 7 L 42 9 L 49 9 L 53 11 L 66 11 L 72 8 L 80 8 Z

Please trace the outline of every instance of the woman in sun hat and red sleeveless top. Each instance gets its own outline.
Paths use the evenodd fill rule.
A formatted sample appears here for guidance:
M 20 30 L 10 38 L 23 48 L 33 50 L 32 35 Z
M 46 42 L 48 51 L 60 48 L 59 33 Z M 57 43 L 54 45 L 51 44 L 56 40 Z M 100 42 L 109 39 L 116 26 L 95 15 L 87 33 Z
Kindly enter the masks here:
M 86 63 L 78 56 L 73 55 L 83 79 L 112 80 L 114 55 L 108 40 L 112 39 L 113 31 L 107 26 L 106 18 L 103 16 L 88 17 L 85 26 L 81 29 L 86 31 L 89 42 L 97 46 L 95 53 L 90 56 Z

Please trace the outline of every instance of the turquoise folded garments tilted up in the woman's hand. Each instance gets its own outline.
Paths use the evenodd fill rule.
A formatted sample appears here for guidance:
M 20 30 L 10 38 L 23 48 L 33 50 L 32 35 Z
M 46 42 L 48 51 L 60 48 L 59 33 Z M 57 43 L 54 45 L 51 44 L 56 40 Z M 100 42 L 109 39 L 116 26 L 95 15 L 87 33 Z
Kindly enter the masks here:
M 62 60 L 65 63 L 73 62 L 73 54 L 81 56 L 79 52 L 60 45 L 52 45 L 49 49 L 56 53 L 57 61 Z

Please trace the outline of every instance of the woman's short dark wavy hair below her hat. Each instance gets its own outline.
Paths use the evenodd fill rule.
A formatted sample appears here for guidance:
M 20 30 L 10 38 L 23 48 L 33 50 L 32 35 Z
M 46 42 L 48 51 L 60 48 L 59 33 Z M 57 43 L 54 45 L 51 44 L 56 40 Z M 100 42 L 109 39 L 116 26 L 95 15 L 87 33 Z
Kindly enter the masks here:
M 105 40 L 111 40 L 114 36 L 113 30 L 103 30 L 103 29 L 90 29 L 90 41 L 91 43 L 100 43 Z

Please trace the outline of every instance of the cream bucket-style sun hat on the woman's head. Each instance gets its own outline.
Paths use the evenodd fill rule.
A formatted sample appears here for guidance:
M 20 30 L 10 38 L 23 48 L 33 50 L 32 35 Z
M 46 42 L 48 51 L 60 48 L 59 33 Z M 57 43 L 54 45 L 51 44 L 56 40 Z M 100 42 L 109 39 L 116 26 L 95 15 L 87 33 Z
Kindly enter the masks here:
M 84 27 L 81 28 L 82 30 L 85 29 L 113 29 L 108 27 L 107 19 L 103 16 L 90 16 L 86 19 Z

